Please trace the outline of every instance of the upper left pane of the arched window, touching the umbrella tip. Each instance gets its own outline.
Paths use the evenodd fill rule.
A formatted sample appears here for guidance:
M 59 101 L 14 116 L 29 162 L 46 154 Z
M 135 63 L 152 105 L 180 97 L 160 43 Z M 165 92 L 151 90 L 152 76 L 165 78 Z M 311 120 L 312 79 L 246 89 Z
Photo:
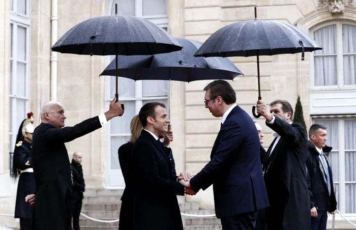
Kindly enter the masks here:
M 314 54 L 336 54 L 336 25 L 329 25 L 314 32 L 314 39 L 322 50 L 314 51 Z

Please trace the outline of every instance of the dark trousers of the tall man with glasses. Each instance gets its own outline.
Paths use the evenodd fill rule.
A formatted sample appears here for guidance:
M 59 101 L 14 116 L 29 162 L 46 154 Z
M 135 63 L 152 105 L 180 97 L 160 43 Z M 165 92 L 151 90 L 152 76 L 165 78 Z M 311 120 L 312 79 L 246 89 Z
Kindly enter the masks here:
M 223 230 L 254 230 L 258 211 L 221 218 Z

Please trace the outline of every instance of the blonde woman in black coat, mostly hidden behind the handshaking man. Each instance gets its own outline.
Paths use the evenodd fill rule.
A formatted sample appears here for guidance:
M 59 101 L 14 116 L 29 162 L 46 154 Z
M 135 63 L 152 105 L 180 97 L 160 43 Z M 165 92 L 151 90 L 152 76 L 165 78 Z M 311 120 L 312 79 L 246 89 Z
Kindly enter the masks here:
M 130 125 L 131 137 L 129 142 L 118 148 L 118 161 L 123 172 L 125 180 L 125 190 L 121 197 L 120 221 L 118 222 L 118 229 L 126 230 L 133 229 L 133 200 L 134 200 L 134 185 L 131 173 L 131 151 L 133 143 L 141 134 L 142 125 L 136 115 Z

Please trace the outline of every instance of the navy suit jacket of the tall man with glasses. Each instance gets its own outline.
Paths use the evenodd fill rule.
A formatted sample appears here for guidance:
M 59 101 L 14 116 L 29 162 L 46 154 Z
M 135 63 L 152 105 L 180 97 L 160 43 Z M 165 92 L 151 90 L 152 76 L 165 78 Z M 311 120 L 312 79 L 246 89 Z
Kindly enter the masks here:
M 213 184 L 218 218 L 256 211 L 268 206 L 255 124 L 239 106 L 220 128 L 211 160 L 190 180 L 194 191 Z

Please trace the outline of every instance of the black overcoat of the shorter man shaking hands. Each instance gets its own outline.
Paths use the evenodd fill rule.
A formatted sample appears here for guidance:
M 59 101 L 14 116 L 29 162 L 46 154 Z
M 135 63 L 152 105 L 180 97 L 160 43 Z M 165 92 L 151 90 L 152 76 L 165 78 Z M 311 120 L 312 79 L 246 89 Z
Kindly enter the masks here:
M 176 195 L 184 186 L 172 175 L 165 149 L 149 132 L 142 130 L 132 149 L 135 186 L 134 229 L 183 230 Z

